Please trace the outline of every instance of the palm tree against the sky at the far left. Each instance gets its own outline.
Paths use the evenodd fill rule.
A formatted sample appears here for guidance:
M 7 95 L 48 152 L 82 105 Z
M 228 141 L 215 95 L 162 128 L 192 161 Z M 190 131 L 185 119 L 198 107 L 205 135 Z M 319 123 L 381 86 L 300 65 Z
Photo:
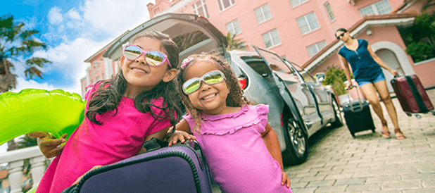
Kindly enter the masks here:
M 15 64 L 24 65 L 25 77 L 32 79 L 36 75 L 42 78 L 39 69 L 51 63 L 46 58 L 32 57 L 34 51 L 46 49 L 46 44 L 36 38 L 38 30 L 27 30 L 24 25 L 25 23 L 15 24 L 13 15 L 0 17 L 0 93 L 16 87 L 18 76 L 12 71 Z M 21 58 L 25 59 L 24 63 Z M 11 139 L 8 151 L 16 148 L 15 141 Z

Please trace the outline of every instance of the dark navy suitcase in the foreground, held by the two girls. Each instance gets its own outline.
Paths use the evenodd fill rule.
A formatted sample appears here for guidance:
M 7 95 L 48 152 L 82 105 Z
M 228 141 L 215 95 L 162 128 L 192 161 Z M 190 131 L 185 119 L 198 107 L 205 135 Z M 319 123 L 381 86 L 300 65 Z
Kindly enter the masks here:
M 92 170 L 65 191 L 212 192 L 208 166 L 196 141 L 163 148 L 161 144 L 153 138 L 144 144 L 145 154 Z

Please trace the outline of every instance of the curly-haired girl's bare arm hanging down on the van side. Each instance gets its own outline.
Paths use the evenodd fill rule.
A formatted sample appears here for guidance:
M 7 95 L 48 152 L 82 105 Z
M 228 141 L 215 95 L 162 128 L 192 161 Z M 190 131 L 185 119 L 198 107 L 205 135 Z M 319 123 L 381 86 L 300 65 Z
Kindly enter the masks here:
M 290 187 L 289 177 L 284 172 L 284 165 L 282 163 L 282 155 L 281 155 L 281 147 L 279 147 L 279 141 L 277 137 L 277 133 L 272 129 L 272 127 L 267 123 L 265 127 L 265 132 L 261 133 L 261 138 L 266 144 L 267 151 L 269 151 L 270 155 L 275 158 L 276 161 L 279 162 L 279 166 L 281 166 L 282 171 L 282 182 L 281 185 L 286 184 L 287 187 Z

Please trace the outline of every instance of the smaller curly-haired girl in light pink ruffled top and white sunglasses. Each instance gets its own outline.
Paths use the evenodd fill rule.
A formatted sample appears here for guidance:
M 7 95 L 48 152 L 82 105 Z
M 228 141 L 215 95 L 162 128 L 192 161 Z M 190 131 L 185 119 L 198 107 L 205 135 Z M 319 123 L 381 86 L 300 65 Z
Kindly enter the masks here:
M 198 140 L 222 192 L 291 192 L 277 135 L 267 123 L 269 107 L 243 96 L 226 61 L 212 54 L 189 56 L 177 81 L 189 113 L 169 142 Z

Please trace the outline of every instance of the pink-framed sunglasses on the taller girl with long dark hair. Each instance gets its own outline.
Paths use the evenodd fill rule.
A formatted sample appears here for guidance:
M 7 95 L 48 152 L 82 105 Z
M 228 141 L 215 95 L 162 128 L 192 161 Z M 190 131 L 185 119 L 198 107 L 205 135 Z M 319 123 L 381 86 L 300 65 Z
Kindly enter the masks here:
M 155 51 L 155 50 L 144 51 L 143 49 L 139 48 L 139 46 L 129 44 L 124 47 L 124 49 L 122 50 L 122 54 L 129 61 L 135 61 L 137 58 L 142 56 L 142 54 L 144 54 L 145 61 L 146 63 L 148 63 L 149 66 L 153 66 L 153 67 L 160 66 L 162 65 L 162 63 L 165 63 L 165 61 L 167 61 L 168 65 L 172 67 L 168 60 L 168 56 L 166 56 L 166 54 L 161 53 L 160 51 Z

